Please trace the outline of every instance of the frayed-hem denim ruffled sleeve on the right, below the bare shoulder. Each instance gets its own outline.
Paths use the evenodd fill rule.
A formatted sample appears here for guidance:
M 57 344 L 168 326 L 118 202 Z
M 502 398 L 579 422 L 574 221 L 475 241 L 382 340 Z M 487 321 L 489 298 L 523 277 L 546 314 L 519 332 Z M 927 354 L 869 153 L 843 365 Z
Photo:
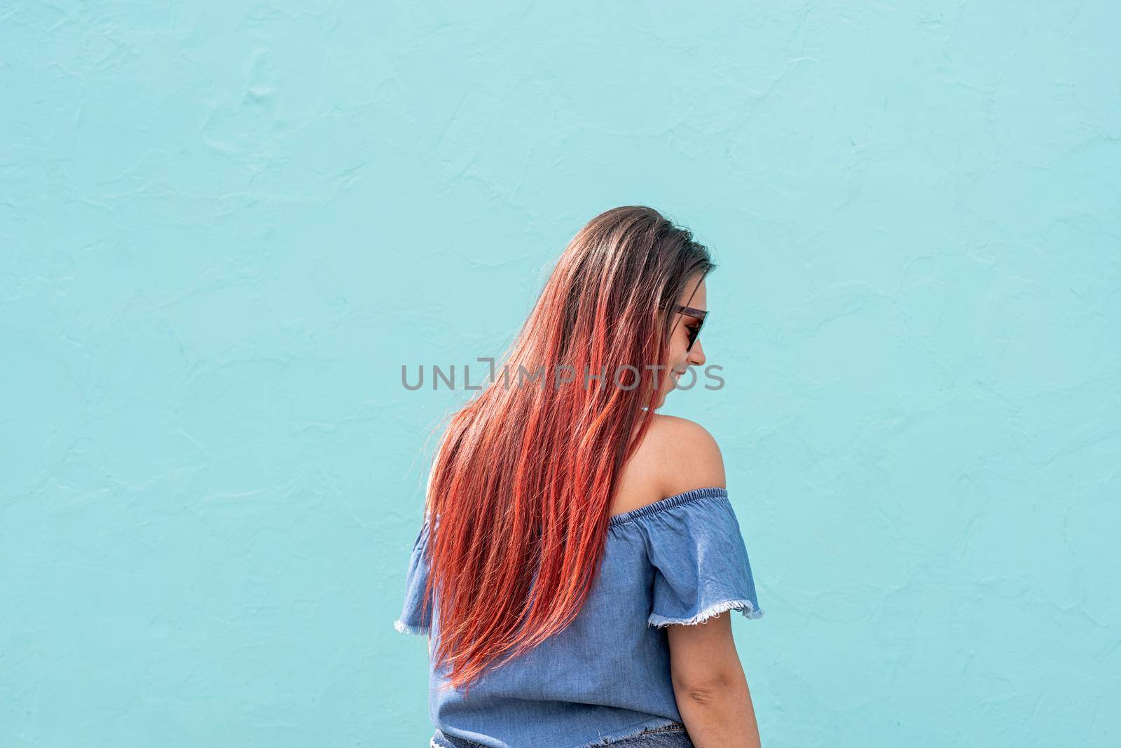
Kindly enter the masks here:
M 725 610 L 762 617 L 726 489 L 697 488 L 643 509 L 654 509 L 639 517 L 655 567 L 648 625 L 700 624 Z

